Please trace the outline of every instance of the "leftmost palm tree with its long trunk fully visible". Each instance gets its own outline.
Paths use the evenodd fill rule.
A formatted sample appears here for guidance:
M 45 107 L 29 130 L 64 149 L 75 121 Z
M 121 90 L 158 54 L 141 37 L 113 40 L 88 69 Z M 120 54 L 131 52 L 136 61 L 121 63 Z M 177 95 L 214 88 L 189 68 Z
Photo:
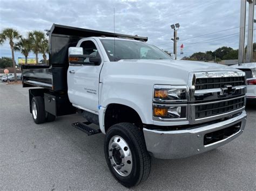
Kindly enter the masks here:
M 9 44 L 11 47 L 11 55 L 12 55 L 12 66 L 14 67 L 14 80 L 17 82 L 17 74 L 15 67 L 15 58 L 14 58 L 14 40 L 19 39 L 21 36 L 18 31 L 11 28 L 6 28 L 0 34 L 0 44 L 2 45 L 4 41 L 9 40 Z

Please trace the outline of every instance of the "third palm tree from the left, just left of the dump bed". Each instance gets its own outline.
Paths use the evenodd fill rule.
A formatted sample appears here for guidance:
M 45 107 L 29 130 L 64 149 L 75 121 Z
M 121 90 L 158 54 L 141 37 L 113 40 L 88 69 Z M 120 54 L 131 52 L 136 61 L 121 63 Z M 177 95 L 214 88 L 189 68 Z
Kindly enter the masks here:
M 38 64 L 38 53 L 41 52 L 41 44 L 45 39 L 44 33 L 42 31 L 32 31 L 29 32 L 29 39 L 33 41 L 32 51 L 36 54 L 36 63 Z

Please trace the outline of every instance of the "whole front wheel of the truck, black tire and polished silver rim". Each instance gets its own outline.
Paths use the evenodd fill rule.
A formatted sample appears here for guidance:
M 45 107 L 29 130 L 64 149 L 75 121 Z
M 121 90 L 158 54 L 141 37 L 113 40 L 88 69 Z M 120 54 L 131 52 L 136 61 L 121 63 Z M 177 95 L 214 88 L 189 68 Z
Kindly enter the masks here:
M 111 126 L 105 136 L 107 166 L 118 182 L 125 187 L 138 185 L 150 174 L 150 155 L 146 150 L 143 132 L 131 123 Z

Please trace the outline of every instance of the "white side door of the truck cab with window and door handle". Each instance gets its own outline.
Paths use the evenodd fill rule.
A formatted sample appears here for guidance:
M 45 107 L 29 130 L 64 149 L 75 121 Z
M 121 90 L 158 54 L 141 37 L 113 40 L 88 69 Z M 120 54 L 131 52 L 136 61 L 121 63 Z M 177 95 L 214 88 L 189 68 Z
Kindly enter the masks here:
M 103 66 L 103 56 L 94 39 L 79 42 L 78 47 L 83 47 L 83 54 L 95 55 L 100 58 L 100 65 L 84 60 L 82 65 L 71 65 L 68 69 L 68 95 L 71 103 L 81 109 L 98 111 L 99 100 L 99 74 Z

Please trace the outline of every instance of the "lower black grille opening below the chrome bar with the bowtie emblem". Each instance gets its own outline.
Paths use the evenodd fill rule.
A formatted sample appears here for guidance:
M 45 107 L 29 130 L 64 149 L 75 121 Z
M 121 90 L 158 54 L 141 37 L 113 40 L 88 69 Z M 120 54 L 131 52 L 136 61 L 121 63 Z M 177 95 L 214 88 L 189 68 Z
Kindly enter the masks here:
M 219 114 L 225 114 L 233 110 L 244 107 L 244 97 L 235 98 L 229 101 L 207 103 L 202 105 L 196 105 L 196 119 L 210 117 Z

